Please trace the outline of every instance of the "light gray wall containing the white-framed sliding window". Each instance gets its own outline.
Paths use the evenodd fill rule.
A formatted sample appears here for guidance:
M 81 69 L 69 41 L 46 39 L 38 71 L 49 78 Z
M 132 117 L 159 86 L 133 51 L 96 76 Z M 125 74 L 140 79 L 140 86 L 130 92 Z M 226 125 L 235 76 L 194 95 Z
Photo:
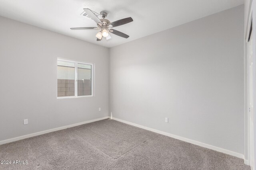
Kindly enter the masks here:
M 108 48 L 3 17 L 0 23 L 0 141 L 108 116 Z M 95 64 L 94 97 L 56 99 L 57 57 Z

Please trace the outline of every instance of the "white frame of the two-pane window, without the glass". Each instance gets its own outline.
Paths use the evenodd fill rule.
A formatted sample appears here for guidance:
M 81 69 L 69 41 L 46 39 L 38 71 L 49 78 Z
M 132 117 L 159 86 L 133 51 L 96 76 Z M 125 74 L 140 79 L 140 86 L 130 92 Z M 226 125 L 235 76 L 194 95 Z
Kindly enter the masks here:
M 66 61 L 70 63 L 75 63 L 75 96 L 62 96 L 58 97 L 58 61 Z M 87 95 L 87 96 L 78 96 L 78 63 L 79 64 L 86 64 L 91 66 L 91 82 L 92 82 L 92 95 Z M 67 99 L 67 98 L 86 98 L 86 97 L 93 97 L 94 95 L 94 64 L 93 63 L 85 63 L 81 61 L 75 61 L 75 60 L 69 60 L 69 59 L 62 59 L 62 58 L 57 58 L 57 99 Z

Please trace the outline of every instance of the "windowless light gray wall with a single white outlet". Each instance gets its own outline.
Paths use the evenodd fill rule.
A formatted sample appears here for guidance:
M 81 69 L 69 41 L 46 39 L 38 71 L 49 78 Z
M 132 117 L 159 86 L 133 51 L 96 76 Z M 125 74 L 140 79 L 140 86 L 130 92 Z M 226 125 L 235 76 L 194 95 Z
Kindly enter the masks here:
M 112 116 L 244 154 L 243 35 L 238 6 L 111 48 Z

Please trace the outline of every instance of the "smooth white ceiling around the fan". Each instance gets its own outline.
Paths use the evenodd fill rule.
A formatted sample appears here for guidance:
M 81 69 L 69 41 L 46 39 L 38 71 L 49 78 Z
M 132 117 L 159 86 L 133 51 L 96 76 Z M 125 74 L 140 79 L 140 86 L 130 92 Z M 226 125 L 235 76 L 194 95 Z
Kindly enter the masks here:
M 0 16 L 114 47 L 241 4 L 244 0 L 0 0 Z M 111 34 L 110 41 L 97 42 L 96 30 L 70 30 L 96 26 L 93 20 L 80 15 L 83 8 L 97 13 L 107 11 L 110 22 L 132 17 L 133 22 L 114 28 L 130 37 Z

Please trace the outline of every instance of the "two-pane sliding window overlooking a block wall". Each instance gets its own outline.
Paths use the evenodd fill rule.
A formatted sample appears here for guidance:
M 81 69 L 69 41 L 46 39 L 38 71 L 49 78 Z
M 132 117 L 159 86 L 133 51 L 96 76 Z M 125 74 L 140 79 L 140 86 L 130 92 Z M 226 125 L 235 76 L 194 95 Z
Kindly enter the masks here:
M 93 64 L 58 59 L 57 70 L 57 98 L 77 98 L 93 95 Z

